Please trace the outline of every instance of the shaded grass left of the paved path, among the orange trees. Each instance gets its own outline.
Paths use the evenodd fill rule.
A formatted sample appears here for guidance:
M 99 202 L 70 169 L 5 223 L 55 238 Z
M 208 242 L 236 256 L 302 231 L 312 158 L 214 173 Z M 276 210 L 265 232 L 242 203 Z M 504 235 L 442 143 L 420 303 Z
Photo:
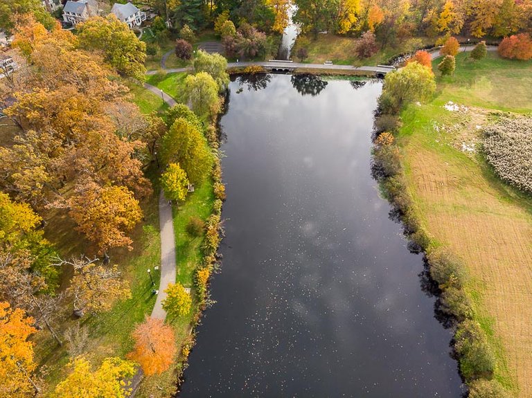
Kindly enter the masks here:
M 89 331 L 85 354 L 87 359 L 94 364 L 101 363 L 107 356 L 124 357 L 127 352 L 130 352 L 133 343 L 130 334 L 134 325 L 142 322 L 145 314 L 150 314 L 152 311 L 155 296 L 151 293 L 152 284 L 147 270 L 159 264 L 161 257 L 158 197 L 156 187 L 154 194 L 141 203 L 145 221 L 132 233 L 134 250 L 130 252 L 124 249 L 109 253 L 112 262 L 118 264 L 123 278 L 130 283 L 132 298 L 116 303 L 111 311 L 98 316 L 87 316 L 82 320 L 82 327 L 87 327 Z M 60 222 L 57 224 L 60 227 Z M 48 231 L 47 237 L 56 243 L 58 248 L 64 248 L 67 246 L 65 242 L 80 241 L 80 236 L 72 228 L 69 230 L 69 234 L 62 235 Z M 64 251 L 62 254 L 64 255 Z M 157 271 L 154 273 L 154 279 L 157 283 L 159 282 Z M 66 311 L 71 311 L 71 309 L 66 309 Z M 60 336 L 68 327 L 77 322 L 69 317 L 61 325 L 57 325 Z M 47 330 L 37 334 L 35 341 L 36 361 L 41 370 L 46 370 L 45 379 L 51 391 L 68 374 L 69 355 L 65 346 L 58 347 L 55 344 Z

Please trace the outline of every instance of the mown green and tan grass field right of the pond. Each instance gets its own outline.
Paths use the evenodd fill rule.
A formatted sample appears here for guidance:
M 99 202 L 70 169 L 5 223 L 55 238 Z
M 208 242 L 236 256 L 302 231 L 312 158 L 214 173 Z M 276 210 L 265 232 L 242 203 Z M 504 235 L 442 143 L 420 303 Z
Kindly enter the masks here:
M 496 379 L 530 397 L 532 198 L 499 180 L 481 154 L 462 148 L 479 143 L 495 111 L 532 115 L 532 62 L 496 53 L 478 62 L 466 57 L 457 57 L 454 76 L 438 78 L 434 100 L 405 109 L 398 143 L 420 221 L 467 266 L 465 289 L 495 348 Z M 447 111 L 450 100 L 467 108 Z

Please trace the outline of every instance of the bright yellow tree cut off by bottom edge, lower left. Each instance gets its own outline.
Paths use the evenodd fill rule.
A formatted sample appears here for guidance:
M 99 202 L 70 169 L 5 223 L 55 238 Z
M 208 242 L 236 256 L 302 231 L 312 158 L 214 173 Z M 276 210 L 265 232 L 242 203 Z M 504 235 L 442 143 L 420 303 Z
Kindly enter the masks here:
M 134 364 L 120 358 L 106 358 L 98 370 L 80 356 L 71 363 L 72 372 L 55 387 L 56 398 L 106 397 L 126 398 L 130 388 L 124 379 L 135 373 Z

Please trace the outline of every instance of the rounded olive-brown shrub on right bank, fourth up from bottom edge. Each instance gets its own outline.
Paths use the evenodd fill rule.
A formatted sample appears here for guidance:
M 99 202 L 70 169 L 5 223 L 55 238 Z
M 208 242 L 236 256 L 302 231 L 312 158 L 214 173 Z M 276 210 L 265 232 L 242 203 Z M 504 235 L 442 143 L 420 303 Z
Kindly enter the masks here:
M 460 288 L 465 281 L 464 266 L 461 261 L 444 248 L 436 248 L 427 253 L 430 276 L 441 289 Z

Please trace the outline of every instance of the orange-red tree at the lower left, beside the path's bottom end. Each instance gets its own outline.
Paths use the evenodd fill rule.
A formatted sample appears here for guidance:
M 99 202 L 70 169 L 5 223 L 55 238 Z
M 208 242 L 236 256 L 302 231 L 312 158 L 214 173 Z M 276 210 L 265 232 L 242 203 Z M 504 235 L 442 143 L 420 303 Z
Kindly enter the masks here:
M 162 319 L 146 316 L 144 322 L 135 327 L 132 337 L 135 345 L 127 358 L 139 363 L 144 374 L 161 374 L 170 368 L 176 352 L 170 325 L 165 325 Z

